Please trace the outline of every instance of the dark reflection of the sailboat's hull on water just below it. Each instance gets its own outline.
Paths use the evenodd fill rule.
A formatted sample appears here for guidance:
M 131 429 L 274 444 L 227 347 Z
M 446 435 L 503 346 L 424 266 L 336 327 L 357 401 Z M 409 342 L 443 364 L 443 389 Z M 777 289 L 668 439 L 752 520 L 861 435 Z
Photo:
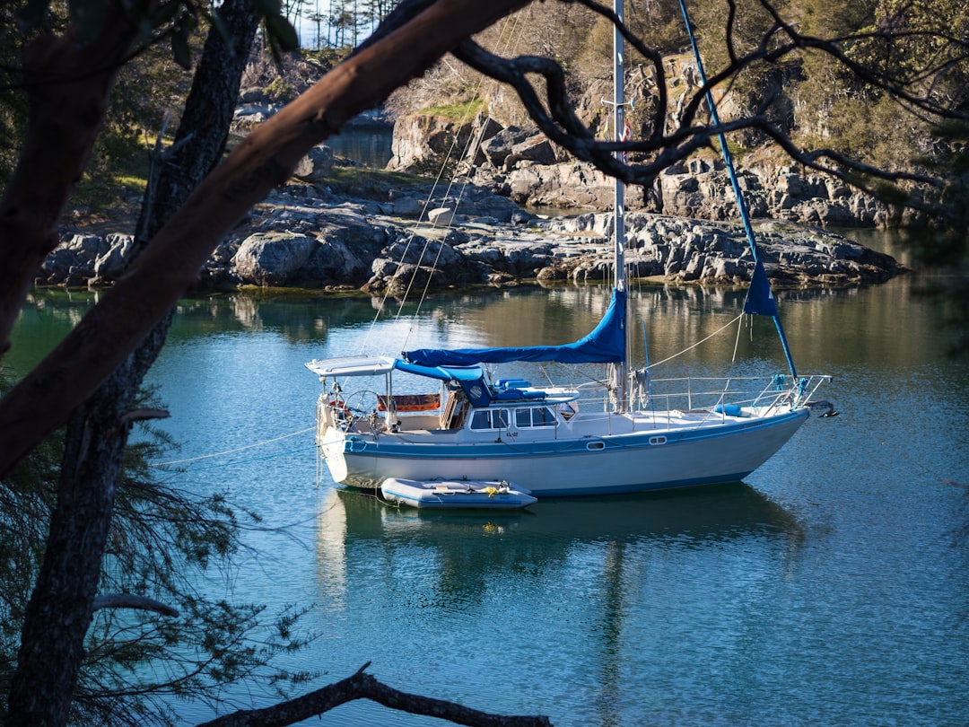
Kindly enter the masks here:
M 372 576 L 384 568 L 392 580 L 405 561 L 411 577 L 475 590 L 492 576 L 574 565 L 576 553 L 604 547 L 660 553 L 743 540 L 748 553 L 761 551 L 758 544 L 789 553 L 802 538 L 790 514 L 743 483 L 540 499 L 528 510 L 510 512 L 396 508 L 372 494 L 332 489 L 321 498 L 318 533 L 321 590 L 336 598 L 356 569 Z

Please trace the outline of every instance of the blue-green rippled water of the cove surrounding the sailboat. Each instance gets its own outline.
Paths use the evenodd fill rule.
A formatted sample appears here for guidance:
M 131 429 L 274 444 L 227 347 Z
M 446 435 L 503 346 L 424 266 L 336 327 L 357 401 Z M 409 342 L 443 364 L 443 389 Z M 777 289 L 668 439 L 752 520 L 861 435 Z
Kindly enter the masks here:
M 969 483 L 969 365 L 946 357 L 917 284 L 778 293 L 799 369 L 833 376 L 824 395 L 841 416 L 812 418 L 745 482 L 520 514 L 427 516 L 326 473 L 318 484 L 319 384 L 303 364 L 577 337 L 602 289 L 435 297 L 415 328 L 369 333 L 369 299 L 184 300 L 151 381 L 189 460 L 175 484 L 227 490 L 264 517 L 234 595 L 312 606 L 302 627 L 318 638 L 282 663 L 321 671 L 321 685 L 369 661 L 391 686 L 557 725 L 965 725 L 969 495 L 946 481 Z M 649 288 L 633 300 L 659 361 L 742 298 Z M 7 364 L 32 363 L 88 304 L 35 296 Z M 738 368 L 783 370 L 769 322 L 755 324 L 663 373 L 712 368 L 735 345 Z M 270 696 L 256 683 L 227 700 Z M 177 709 L 186 723 L 210 716 Z M 441 724 L 367 703 L 307 721 L 389 723 Z

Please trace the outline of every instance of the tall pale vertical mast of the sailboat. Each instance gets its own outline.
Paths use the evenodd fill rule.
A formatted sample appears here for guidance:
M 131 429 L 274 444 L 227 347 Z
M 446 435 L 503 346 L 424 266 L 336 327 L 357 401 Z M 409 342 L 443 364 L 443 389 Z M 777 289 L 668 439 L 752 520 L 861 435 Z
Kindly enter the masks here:
M 614 0 L 613 10 L 619 18 L 619 22 L 625 22 L 623 16 L 623 0 Z M 622 32 L 619 26 L 612 28 L 612 134 L 615 141 L 624 141 L 626 130 L 626 103 L 625 92 L 625 68 L 623 64 L 623 42 Z M 614 152 L 615 158 L 621 161 L 622 152 Z M 614 177 L 615 180 L 615 201 L 612 205 L 613 238 L 612 238 L 612 264 L 615 269 L 614 287 L 621 293 L 628 292 L 628 276 L 626 272 L 626 186 L 622 179 Z M 628 374 L 629 374 L 629 315 L 627 310 L 623 314 L 623 334 L 626 336 L 625 357 L 622 364 L 613 364 L 613 376 L 615 385 L 615 410 L 625 412 L 629 406 Z

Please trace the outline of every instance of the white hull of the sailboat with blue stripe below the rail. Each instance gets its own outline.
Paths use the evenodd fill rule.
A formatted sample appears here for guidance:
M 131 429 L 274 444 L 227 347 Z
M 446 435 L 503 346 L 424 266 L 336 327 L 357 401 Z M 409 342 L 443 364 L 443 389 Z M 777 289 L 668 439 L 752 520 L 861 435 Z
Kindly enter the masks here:
M 359 488 L 399 478 L 508 480 L 539 497 L 637 492 L 738 481 L 774 455 L 807 417 L 806 407 L 764 417 L 707 414 L 666 428 L 573 438 L 557 433 L 544 441 L 507 433 L 507 441 L 492 436 L 470 442 L 459 432 L 361 435 L 329 428 L 321 451 L 334 480 Z M 610 416 L 613 430 L 638 421 Z

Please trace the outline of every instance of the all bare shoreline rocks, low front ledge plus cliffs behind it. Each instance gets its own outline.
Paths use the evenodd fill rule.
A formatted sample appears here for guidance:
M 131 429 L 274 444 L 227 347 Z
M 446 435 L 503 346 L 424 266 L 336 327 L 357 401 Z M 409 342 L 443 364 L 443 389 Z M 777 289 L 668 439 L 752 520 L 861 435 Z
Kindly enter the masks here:
M 408 128 L 399 135 L 395 129 L 391 167 L 406 167 L 405 158 L 413 161 L 420 152 L 399 141 L 398 136 L 417 138 L 413 129 L 408 136 Z M 427 129 L 421 128 L 426 138 Z M 611 180 L 586 165 L 556 163 L 547 142 L 521 130 L 496 127 L 492 132 L 474 172 L 455 181 L 446 195 L 429 182 L 404 182 L 393 175 L 376 184 L 338 187 L 332 181 L 334 163 L 348 163 L 334 160 L 326 146 L 314 148 L 291 182 L 253 210 L 212 253 L 198 288 L 299 287 L 399 295 L 413 285 L 441 289 L 610 279 L 610 213 L 544 219 L 518 203 L 561 204 L 563 196 L 576 203 L 581 192 L 579 204 L 607 209 Z M 672 168 L 658 184 L 667 190 L 664 209 L 672 206 L 677 213 L 627 213 L 627 263 L 633 277 L 729 285 L 749 281 L 753 260 L 742 228 L 694 218 L 700 210 L 707 217 L 732 216 L 729 185 L 717 181 L 721 173 L 716 164 L 702 161 Z M 742 180 L 774 285 L 858 285 L 906 271 L 888 255 L 803 224 L 871 226 L 881 214 L 876 206 L 847 190 L 829 189 L 828 182 L 782 173 L 774 170 L 776 178 L 767 186 L 753 173 Z M 819 184 L 828 186 L 822 192 Z M 641 188 L 631 189 L 629 206 L 648 208 L 642 199 L 636 204 L 643 194 Z M 65 228 L 35 283 L 109 285 L 124 268 L 132 244 L 125 230 Z

